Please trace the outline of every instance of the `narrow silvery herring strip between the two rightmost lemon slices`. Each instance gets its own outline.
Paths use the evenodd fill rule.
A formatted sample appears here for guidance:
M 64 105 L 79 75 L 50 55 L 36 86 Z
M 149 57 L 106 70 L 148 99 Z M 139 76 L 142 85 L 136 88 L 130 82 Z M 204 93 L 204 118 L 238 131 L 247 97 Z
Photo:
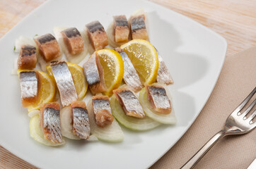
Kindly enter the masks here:
M 143 86 L 134 65 L 132 65 L 132 61 L 122 49 L 116 48 L 115 51 L 122 56 L 122 60 L 124 61 L 124 82 L 129 85 L 134 92 L 139 92 Z

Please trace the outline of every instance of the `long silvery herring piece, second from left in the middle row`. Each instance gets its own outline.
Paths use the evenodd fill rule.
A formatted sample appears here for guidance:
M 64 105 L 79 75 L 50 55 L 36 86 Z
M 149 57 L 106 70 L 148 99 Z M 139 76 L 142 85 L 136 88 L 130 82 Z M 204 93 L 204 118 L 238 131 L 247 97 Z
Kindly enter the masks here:
M 62 106 L 69 106 L 72 101 L 78 100 L 73 77 L 65 61 L 54 61 L 50 64 L 52 74 L 59 89 Z

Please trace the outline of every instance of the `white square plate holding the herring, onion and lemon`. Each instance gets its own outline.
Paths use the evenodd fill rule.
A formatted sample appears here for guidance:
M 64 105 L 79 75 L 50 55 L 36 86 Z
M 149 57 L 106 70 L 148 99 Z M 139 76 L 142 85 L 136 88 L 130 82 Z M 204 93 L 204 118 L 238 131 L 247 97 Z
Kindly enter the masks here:
M 149 17 L 151 43 L 161 53 L 175 84 L 169 89 L 177 125 L 147 132 L 124 129 L 121 143 L 67 140 L 48 147 L 29 134 L 29 118 L 21 106 L 18 78 L 11 75 L 15 39 L 52 32 L 54 26 L 83 29 L 99 20 L 105 29 L 112 15 L 131 15 L 144 8 Z M 149 1 L 47 1 L 0 39 L 0 144 L 40 168 L 148 168 L 165 154 L 192 125 L 209 98 L 226 54 L 226 40 L 190 18 Z

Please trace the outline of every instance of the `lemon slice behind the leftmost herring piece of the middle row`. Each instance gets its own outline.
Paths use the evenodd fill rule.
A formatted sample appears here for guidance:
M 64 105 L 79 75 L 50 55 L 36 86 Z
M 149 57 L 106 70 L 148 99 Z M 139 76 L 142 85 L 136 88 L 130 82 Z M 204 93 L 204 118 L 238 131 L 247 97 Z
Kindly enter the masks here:
M 21 71 L 23 70 L 17 71 L 18 75 L 19 73 L 21 73 Z M 29 70 L 26 70 L 26 71 L 29 71 Z M 51 102 L 55 96 L 55 84 L 52 78 L 40 70 L 35 70 L 35 71 L 37 71 L 40 79 L 39 99 L 35 104 L 27 107 L 28 112 L 40 109 L 40 106 L 42 104 Z

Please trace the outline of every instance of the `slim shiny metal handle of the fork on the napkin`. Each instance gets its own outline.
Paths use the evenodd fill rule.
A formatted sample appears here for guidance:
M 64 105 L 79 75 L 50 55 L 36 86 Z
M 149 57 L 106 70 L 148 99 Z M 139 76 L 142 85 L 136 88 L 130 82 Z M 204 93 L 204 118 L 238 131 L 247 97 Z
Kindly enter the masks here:
M 194 167 L 194 165 L 204 156 L 204 154 L 206 154 L 206 152 L 211 149 L 211 146 L 214 146 L 214 144 L 224 135 L 224 130 L 221 130 L 217 134 L 215 134 L 214 137 L 211 137 L 211 139 L 206 142 L 206 144 L 204 144 L 204 146 L 199 149 L 199 151 L 197 151 L 197 153 L 194 154 L 194 156 L 192 156 L 192 158 L 190 158 L 190 160 L 187 161 L 187 163 L 185 163 L 185 165 L 183 165 L 180 169 L 189 169 Z

